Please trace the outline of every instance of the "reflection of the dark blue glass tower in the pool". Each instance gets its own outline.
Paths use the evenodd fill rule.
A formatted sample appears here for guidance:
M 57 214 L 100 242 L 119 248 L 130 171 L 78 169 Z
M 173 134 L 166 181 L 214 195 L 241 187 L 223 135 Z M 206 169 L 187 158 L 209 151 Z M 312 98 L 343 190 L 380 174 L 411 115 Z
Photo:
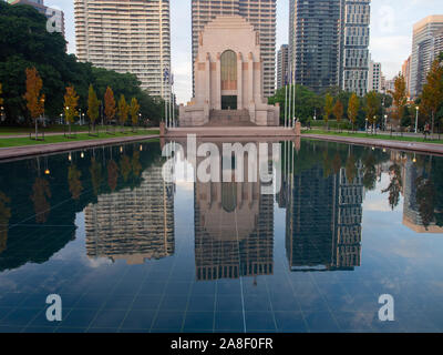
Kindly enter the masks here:
M 323 176 L 316 165 L 288 186 L 286 250 L 292 271 L 360 266 L 363 184 L 361 165 L 348 182 L 344 168 Z

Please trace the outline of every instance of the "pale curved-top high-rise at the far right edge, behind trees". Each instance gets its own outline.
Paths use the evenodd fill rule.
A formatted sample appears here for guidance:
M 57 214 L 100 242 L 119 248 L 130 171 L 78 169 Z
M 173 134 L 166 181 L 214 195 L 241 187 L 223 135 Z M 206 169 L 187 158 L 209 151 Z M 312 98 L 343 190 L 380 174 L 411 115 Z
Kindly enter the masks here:
M 429 16 L 413 27 L 411 55 L 411 97 L 421 94 L 435 57 L 435 48 L 441 45 L 443 14 Z

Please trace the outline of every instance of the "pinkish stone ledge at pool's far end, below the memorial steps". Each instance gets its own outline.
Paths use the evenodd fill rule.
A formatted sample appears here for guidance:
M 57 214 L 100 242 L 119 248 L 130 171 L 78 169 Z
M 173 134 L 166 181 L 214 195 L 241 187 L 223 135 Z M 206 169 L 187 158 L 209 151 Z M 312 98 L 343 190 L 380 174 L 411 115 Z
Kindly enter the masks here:
M 188 134 L 210 138 L 238 138 L 238 136 L 281 136 L 293 138 L 295 131 L 290 128 L 281 126 L 206 126 L 206 128 L 176 128 L 168 129 L 166 138 L 184 138 Z

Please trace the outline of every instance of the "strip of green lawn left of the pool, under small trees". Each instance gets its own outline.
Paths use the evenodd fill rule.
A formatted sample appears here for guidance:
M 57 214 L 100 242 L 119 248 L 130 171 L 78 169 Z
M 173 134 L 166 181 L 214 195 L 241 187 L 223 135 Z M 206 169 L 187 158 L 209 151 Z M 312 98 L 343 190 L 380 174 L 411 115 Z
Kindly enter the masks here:
M 140 130 L 137 132 L 131 132 L 130 130 L 126 133 L 121 133 L 116 131 L 115 134 L 106 134 L 100 133 L 99 136 L 91 136 L 87 133 L 79 133 L 76 136 L 66 138 L 64 135 L 52 135 L 47 136 L 44 141 L 34 141 L 29 138 L 8 138 L 0 139 L 0 148 L 11 148 L 11 146 L 23 146 L 23 145 L 35 145 L 35 144 L 50 144 L 50 143 L 66 143 L 66 142 L 78 142 L 78 141 L 89 141 L 89 140 L 97 140 L 97 139 L 111 139 L 119 136 L 133 136 L 133 135 L 146 135 L 146 134 L 158 134 L 158 130 Z

